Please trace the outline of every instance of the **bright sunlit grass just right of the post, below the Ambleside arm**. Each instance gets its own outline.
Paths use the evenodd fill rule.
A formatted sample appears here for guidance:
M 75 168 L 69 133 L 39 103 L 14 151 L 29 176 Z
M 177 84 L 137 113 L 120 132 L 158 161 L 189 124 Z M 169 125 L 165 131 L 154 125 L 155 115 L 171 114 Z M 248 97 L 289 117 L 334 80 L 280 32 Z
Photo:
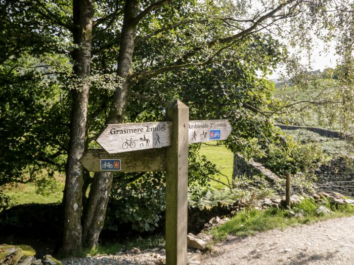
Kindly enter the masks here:
M 227 149 L 225 145 L 216 145 L 216 142 L 207 142 L 207 144 L 208 145 L 202 144 L 200 147 L 200 154 L 205 155 L 206 158 L 210 162 L 214 163 L 220 172 L 226 176 L 218 176 L 217 178 L 219 178 L 220 181 L 228 183 L 228 178 L 231 183 L 234 154 L 229 149 Z M 225 188 L 223 184 L 215 181 L 211 181 L 210 184 L 211 187 L 215 189 Z

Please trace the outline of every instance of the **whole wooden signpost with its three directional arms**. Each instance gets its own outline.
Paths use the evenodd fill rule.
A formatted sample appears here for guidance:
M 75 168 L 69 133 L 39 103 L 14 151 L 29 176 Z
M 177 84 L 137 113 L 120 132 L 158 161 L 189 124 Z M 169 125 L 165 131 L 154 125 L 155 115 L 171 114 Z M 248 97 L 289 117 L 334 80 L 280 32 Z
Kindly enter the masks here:
M 166 264 L 187 264 L 188 144 L 226 140 L 228 120 L 189 121 L 189 108 L 175 100 L 165 122 L 109 124 L 81 165 L 90 172 L 166 171 Z M 153 149 L 152 149 L 153 148 Z

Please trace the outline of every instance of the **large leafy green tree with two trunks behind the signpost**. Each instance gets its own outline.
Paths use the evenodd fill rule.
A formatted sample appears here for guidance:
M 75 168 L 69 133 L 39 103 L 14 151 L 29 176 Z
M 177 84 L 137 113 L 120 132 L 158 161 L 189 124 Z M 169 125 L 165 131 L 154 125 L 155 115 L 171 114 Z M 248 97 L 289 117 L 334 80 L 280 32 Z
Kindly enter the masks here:
M 35 148 L 41 155 L 34 161 L 54 163 L 60 169 L 63 164 L 58 160 L 67 151 L 63 200 L 66 254 L 81 245 L 95 246 L 103 226 L 113 174 L 97 173 L 91 178 L 78 159 L 94 145 L 93 136 L 105 123 L 162 119 L 161 106 L 179 96 L 190 105 L 195 118 L 232 119 L 235 132 L 228 143 L 230 148 L 256 151 L 254 136 L 269 133 L 272 126 L 267 112 L 271 113 L 278 104 L 270 99 L 270 83 L 258 78 L 257 71 L 266 74 L 284 58 L 286 49 L 272 37 L 272 30 L 281 30 L 282 21 L 298 15 L 307 5 L 295 0 L 264 5 L 260 2 L 256 8 L 251 2 L 223 0 L 1 3 L 7 34 L 13 29 L 21 34 L 1 38 L 2 47 L 8 48 L 2 59 L 2 75 L 11 77 L 4 86 L 22 89 L 27 78 L 31 89 L 41 96 L 35 87 L 43 84 L 43 75 L 47 75 L 53 80 L 43 84 L 45 91 L 53 91 L 53 86 L 61 92 L 65 87 L 65 97 L 56 100 L 51 112 L 65 110 L 59 116 L 54 114 L 60 122 L 66 122 L 54 133 L 61 138 L 55 142 L 57 138 L 53 139 L 52 134 L 45 135 L 47 142 Z M 22 38 L 26 41 L 20 41 Z M 56 61 L 58 57 L 69 61 L 57 64 L 54 72 L 47 72 L 45 64 L 46 69 L 40 69 L 35 78 L 36 65 L 26 58 L 28 52 L 39 63 L 46 59 Z M 30 71 L 26 74 L 20 73 L 21 60 L 29 62 Z M 14 69 L 18 70 L 17 75 Z M 50 94 L 46 96 L 52 98 Z M 51 109 L 48 104 L 41 107 Z M 8 110 L 6 104 L 2 108 L 2 113 Z M 63 117 L 68 112 L 70 124 Z M 46 126 L 38 130 L 50 127 L 50 120 L 46 118 Z M 32 128 L 25 129 L 33 135 L 29 138 L 37 142 L 43 134 L 33 134 Z M 68 130 L 69 139 L 65 137 Z M 20 134 L 19 138 L 27 139 L 28 135 Z M 16 169 L 12 164 L 11 170 L 22 176 L 23 169 L 33 164 L 32 151 L 28 150 L 23 168 Z

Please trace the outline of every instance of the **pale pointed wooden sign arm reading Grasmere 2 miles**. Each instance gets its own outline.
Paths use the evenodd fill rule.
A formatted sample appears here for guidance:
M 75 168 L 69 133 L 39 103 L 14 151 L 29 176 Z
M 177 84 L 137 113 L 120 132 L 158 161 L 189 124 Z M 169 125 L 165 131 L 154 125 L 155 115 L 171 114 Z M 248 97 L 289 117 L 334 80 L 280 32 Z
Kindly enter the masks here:
M 170 145 L 170 122 L 109 124 L 96 141 L 109 153 Z

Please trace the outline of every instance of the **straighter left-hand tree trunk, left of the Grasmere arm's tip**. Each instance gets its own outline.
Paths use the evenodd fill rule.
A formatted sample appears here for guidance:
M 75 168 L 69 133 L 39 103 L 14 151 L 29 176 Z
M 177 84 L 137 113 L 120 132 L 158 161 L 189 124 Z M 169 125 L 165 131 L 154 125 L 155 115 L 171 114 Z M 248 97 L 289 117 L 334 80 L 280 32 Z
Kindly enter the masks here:
M 93 0 L 73 1 L 73 72 L 80 80 L 72 90 L 70 141 L 64 192 L 64 236 L 62 252 L 72 254 L 81 247 L 82 168 L 79 158 L 85 148 L 87 103 L 89 101 Z

